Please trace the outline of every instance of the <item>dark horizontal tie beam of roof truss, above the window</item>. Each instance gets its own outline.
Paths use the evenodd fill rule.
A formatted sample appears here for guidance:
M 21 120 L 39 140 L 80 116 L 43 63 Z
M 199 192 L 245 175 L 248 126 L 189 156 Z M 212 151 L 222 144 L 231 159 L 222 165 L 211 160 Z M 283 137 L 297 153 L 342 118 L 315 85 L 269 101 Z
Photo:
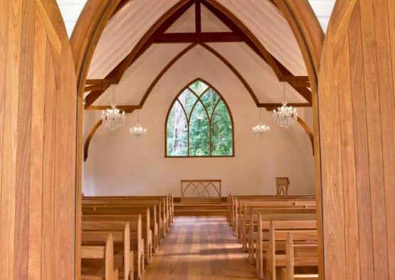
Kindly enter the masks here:
M 234 32 L 162 33 L 157 34 L 154 43 L 228 43 L 244 42 Z

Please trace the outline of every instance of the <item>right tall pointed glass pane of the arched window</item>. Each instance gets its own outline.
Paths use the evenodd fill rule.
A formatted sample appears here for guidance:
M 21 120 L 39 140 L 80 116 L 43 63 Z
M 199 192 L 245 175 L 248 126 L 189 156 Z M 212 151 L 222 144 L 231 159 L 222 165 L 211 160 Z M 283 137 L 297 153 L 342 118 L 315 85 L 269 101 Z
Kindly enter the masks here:
M 233 137 L 232 122 L 226 104 L 221 100 L 211 120 L 211 151 L 212 156 L 232 156 Z

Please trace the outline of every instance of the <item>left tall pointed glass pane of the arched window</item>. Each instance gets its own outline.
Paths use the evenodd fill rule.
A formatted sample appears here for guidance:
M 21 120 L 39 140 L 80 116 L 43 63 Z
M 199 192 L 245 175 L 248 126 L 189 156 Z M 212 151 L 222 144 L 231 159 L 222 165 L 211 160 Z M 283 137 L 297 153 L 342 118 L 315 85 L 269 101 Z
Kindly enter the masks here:
M 178 101 L 167 119 L 167 156 L 188 156 L 188 122 Z

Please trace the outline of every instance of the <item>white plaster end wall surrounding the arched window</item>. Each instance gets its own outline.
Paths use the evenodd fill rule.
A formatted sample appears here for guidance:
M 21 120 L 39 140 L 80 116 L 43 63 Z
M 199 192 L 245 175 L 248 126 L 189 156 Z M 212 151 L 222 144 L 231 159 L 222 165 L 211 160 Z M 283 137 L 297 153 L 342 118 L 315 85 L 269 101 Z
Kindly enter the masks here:
M 233 158 L 164 158 L 167 110 L 179 90 L 196 77 L 214 85 L 228 102 L 235 129 Z M 301 109 L 300 117 L 305 115 L 311 118 Z M 141 123 L 148 129 L 144 141 L 136 143 L 128 134 L 136 122 L 135 113 L 127 116 L 125 126 L 118 131 L 107 131 L 103 126 L 98 129 L 85 163 L 83 191 L 94 190 L 95 195 L 174 192 L 179 196 L 180 179 L 219 178 L 225 195 L 273 194 L 275 177 L 288 176 L 290 193 L 314 193 L 314 159 L 302 126 L 280 129 L 263 109 L 264 122 L 272 131 L 267 139 L 258 141 L 251 135 L 258 116 L 256 105 L 233 72 L 210 53 L 188 53 L 162 77 L 144 104 L 140 112 Z

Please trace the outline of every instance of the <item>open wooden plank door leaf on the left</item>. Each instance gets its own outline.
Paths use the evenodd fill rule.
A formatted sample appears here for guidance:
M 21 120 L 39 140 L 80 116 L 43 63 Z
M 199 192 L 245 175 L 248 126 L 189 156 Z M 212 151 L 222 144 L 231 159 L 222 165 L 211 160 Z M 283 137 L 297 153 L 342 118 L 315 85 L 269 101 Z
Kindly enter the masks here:
M 0 1 L 1 279 L 75 277 L 76 97 L 56 1 Z

